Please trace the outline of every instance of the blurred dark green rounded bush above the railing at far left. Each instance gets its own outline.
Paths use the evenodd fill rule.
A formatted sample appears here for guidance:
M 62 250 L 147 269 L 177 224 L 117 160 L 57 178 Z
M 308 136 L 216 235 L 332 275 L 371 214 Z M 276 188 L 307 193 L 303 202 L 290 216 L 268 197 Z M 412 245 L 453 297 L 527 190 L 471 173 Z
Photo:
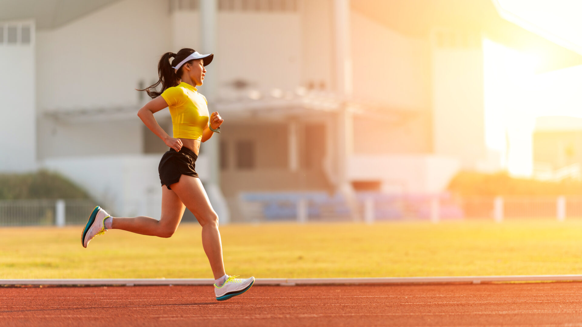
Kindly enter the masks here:
M 85 190 L 58 173 L 0 174 L 0 199 L 90 198 Z

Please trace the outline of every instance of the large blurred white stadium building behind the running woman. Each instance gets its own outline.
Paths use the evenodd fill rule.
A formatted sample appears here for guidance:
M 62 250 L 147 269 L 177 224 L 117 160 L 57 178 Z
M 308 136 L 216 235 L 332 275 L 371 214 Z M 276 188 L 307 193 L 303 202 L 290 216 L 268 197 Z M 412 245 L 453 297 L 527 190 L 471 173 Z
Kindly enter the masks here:
M 455 10 L 451 10 L 454 8 Z M 0 0 L 0 172 L 54 170 L 116 215 L 159 216 L 165 144 L 137 110 L 164 52 L 214 53 L 223 132 L 197 171 L 221 221 L 249 194 L 437 194 L 485 145 L 482 39 L 582 58 L 491 0 Z M 155 115 L 171 130 L 167 110 Z

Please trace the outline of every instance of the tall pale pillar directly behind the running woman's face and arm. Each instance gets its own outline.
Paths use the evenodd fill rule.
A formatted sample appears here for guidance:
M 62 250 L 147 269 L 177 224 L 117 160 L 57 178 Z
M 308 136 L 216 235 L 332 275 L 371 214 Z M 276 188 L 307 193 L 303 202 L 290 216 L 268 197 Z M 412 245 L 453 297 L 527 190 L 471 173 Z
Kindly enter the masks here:
M 200 39 L 202 54 L 214 53 L 217 51 L 217 0 L 200 0 Z M 217 80 L 218 80 L 218 61 L 219 54 L 215 56 L 212 65 L 208 66 L 208 78 L 204 80 L 203 90 L 208 100 L 208 111 L 212 113 L 212 104 L 216 99 Z M 230 212 L 228 204 L 220 189 L 220 157 L 219 157 L 220 134 L 215 134 L 212 138 L 202 145 L 204 155 L 210 161 L 210 178 L 205 184 L 208 198 L 217 212 L 220 223 L 230 222 Z

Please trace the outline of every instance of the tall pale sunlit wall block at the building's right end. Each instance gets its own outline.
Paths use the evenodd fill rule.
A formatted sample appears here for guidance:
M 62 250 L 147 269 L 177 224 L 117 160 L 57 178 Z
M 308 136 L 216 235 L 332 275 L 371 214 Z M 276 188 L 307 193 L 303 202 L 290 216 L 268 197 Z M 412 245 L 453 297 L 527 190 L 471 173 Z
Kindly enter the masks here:
M 442 45 L 443 37 L 469 43 Z M 474 170 L 487 158 L 481 34 L 433 29 L 430 40 L 432 151 L 455 157 L 464 169 Z

